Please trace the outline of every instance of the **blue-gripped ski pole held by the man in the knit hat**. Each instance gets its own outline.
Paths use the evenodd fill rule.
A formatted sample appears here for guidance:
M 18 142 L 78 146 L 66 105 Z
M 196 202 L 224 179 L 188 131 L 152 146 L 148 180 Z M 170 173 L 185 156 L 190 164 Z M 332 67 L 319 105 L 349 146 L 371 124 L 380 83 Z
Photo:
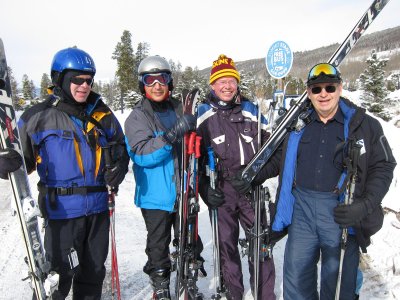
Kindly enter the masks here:
M 216 172 L 215 172 L 215 157 L 212 147 L 207 147 L 208 166 L 210 170 L 210 187 L 215 190 L 216 187 Z M 221 266 L 219 257 L 219 234 L 218 234 L 218 209 L 211 209 L 211 228 L 213 239 L 213 262 L 214 262 L 214 289 L 215 293 L 211 299 L 221 299 Z

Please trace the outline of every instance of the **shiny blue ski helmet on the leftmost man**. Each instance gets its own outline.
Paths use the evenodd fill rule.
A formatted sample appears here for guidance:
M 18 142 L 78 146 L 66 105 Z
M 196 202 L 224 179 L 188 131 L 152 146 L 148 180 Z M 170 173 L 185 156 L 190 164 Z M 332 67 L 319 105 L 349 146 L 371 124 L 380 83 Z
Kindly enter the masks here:
M 58 51 L 51 63 L 51 81 L 55 86 L 61 86 L 67 71 L 81 71 L 92 75 L 96 74 L 96 65 L 92 57 L 78 48 L 66 48 Z

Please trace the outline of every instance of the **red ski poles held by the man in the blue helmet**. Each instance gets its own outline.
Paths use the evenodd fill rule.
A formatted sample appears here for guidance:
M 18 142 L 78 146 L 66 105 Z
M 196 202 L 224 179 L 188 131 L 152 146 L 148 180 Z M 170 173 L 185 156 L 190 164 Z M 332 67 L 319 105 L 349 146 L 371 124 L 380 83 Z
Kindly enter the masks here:
M 111 143 L 103 147 L 106 169 L 111 169 L 113 159 L 111 156 Z M 108 211 L 110 216 L 110 235 L 111 235 L 111 299 L 114 300 L 115 290 L 117 299 L 121 299 L 121 289 L 119 284 L 117 245 L 115 242 L 115 193 L 114 187 L 107 185 L 108 190 Z

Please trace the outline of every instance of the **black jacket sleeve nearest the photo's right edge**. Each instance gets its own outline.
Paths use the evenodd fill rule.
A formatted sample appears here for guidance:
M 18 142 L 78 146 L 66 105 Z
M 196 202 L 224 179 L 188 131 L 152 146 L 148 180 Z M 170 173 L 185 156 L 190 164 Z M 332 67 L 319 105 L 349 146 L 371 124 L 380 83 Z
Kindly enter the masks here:
M 362 197 L 367 200 L 368 212 L 371 213 L 389 190 L 396 160 L 379 121 L 370 118 L 369 130 L 372 134 L 371 149 L 366 149 L 370 153 L 367 170 L 364 170 L 366 180 Z

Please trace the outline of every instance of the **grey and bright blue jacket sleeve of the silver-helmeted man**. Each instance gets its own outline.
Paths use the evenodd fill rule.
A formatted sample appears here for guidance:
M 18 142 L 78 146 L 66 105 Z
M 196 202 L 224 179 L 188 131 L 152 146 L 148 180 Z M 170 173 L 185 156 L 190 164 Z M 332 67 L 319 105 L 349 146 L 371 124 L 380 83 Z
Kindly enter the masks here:
M 126 119 L 125 136 L 129 156 L 139 166 L 153 167 L 172 155 L 172 146 L 162 138 L 161 132 L 151 127 L 139 109 L 134 109 Z

